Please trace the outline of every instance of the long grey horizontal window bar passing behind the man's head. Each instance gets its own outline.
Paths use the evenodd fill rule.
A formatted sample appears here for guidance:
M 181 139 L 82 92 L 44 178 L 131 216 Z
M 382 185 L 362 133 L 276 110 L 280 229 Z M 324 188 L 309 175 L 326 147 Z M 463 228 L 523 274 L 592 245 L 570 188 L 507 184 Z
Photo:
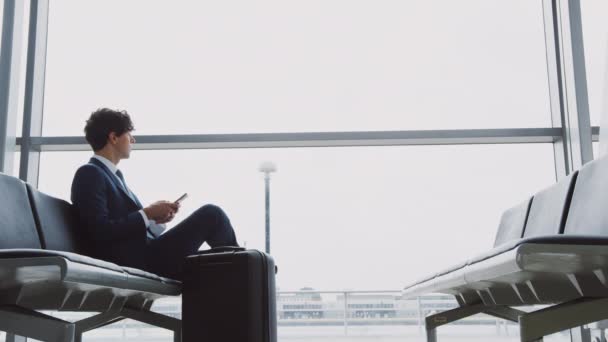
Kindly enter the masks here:
M 599 132 L 599 129 L 598 129 Z M 560 128 L 135 136 L 137 150 L 551 143 Z M 21 146 L 21 138 L 17 138 Z M 36 151 L 86 151 L 84 137 L 32 137 Z

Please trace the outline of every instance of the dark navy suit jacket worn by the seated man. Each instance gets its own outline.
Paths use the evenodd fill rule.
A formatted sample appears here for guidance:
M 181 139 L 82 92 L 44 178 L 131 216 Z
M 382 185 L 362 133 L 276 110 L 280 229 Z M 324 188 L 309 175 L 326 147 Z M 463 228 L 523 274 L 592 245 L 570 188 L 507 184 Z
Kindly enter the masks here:
M 133 195 L 135 197 L 135 195 Z M 121 266 L 145 265 L 146 226 L 141 204 L 102 162 L 91 158 L 72 181 L 72 203 L 95 258 Z

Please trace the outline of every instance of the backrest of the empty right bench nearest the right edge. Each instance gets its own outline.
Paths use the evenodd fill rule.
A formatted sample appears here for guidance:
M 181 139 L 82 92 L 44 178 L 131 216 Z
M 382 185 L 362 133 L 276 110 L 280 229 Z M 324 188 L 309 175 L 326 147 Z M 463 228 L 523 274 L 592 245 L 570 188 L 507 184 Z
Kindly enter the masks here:
M 564 234 L 608 236 L 608 157 L 580 169 Z

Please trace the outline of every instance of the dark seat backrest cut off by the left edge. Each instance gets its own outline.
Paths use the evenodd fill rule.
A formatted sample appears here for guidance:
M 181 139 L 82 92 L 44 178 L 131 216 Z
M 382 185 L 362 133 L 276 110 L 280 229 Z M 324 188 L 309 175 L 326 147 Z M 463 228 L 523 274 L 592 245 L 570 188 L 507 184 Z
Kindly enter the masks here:
M 25 183 L 0 173 L 0 249 L 40 247 Z

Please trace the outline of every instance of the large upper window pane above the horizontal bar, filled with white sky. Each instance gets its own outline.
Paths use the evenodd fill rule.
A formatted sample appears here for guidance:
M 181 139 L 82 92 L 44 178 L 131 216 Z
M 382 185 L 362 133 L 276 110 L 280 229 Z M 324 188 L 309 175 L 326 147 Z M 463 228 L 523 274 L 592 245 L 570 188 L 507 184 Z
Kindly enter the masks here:
M 54 0 L 45 135 L 548 127 L 540 1 Z M 517 23 L 517 24 L 514 24 Z

